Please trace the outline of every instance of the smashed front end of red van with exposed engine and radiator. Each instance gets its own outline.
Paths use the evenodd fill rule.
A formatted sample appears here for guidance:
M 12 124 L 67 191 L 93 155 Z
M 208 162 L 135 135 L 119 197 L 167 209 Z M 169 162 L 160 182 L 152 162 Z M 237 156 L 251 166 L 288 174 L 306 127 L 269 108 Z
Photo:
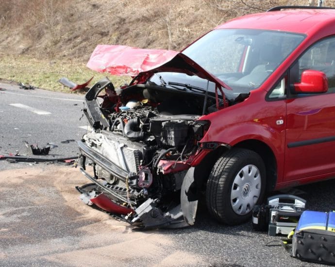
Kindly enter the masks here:
M 80 169 L 92 182 L 77 187 L 84 203 L 140 229 L 194 224 L 194 166 L 211 150 L 199 145 L 210 126 L 201 117 L 228 105 L 221 85 L 194 66 L 179 54 L 129 86 L 116 89 L 104 78 L 87 92 L 84 114 L 93 131 L 78 141 Z M 196 75 L 205 88 L 171 82 L 170 75 Z

